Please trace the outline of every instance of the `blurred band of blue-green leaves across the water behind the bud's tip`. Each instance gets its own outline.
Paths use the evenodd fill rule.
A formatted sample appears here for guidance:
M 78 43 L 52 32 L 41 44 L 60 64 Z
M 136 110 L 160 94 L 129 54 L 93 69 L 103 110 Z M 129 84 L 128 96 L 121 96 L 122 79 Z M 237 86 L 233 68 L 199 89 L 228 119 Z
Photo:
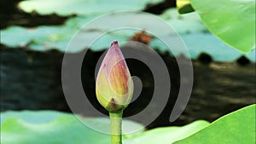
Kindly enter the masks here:
M 64 52 L 66 51 L 67 45 L 75 32 L 77 32 L 79 28 L 83 27 L 90 20 L 95 19 L 96 16 L 97 15 L 73 17 L 68 19 L 63 26 L 38 26 L 35 28 L 10 26 L 7 29 L 1 31 L 0 40 L 1 43 L 11 48 L 21 47 L 37 51 L 58 49 Z M 141 17 L 143 20 L 143 14 Z M 187 45 L 187 49 L 189 50 L 189 55 L 186 56 L 192 59 L 196 59 L 202 52 L 211 55 L 212 59 L 216 61 L 234 61 L 241 56 L 240 52 L 235 49 L 230 49 L 230 47 L 225 43 L 218 40 L 218 38 L 213 37 L 211 33 L 207 32 L 207 28 L 201 23 L 200 17 L 196 13 L 180 15 L 177 14 L 176 9 L 168 9 L 164 14 L 161 14 L 160 17 L 166 20 L 168 24 L 177 30 L 177 32 L 183 38 L 184 43 Z M 112 19 L 115 20 L 119 18 L 113 15 Z M 133 21 L 131 20 L 128 20 L 126 23 L 127 26 L 133 25 Z M 81 31 L 81 38 L 76 41 L 76 45 L 78 46 L 73 49 L 69 49 L 67 52 L 79 52 L 85 48 L 90 48 L 92 50 L 106 49 L 109 47 L 108 43 L 112 42 L 113 39 L 118 40 L 119 42 L 125 42 L 129 40 L 135 32 L 138 32 L 137 30 L 131 29 L 122 29 L 119 31 L 108 32 L 105 33 L 102 37 L 99 37 L 96 40 L 96 43 L 93 43 L 92 46 L 90 46 L 90 43 L 95 39 L 91 39 L 90 37 L 83 37 L 83 34 L 85 33 L 93 36 L 98 32 L 105 31 L 106 28 L 108 28 L 108 25 L 113 24 L 100 23 L 93 28 L 84 28 L 84 30 Z M 159 29 L 159 31 L 166 39 L 178 38 L 176 35 L 166 33 L 166 30 Z M 162 43 L 157 37 L 153 38 L 152 42 L 149 43 L 149 46 L 154 49 L 160 49 L 160 51 L 163 52 L 169 50 L 165 43 Z M 249 60 L 256 61 L 255 51 L 249 53 L 246 56 Z

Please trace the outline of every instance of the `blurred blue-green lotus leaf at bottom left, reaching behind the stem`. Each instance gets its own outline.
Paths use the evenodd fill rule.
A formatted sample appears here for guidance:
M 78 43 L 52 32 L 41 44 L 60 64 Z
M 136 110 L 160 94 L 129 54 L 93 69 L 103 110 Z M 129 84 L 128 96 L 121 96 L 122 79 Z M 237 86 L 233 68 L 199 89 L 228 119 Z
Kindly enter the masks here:
M 108 118 L 84 118 L 86 124 L 108 129 Z M 143 130 L 142 124 L 124 120 L 123 129 Z M 137 135 L 139 133 L 135 133 Z M 15 138 L 14 138 L 15 137 Z M 3 144 L 106 144 L 110 135 L 92 130 L 73 114 L 55 111 L 22 111 L 1 113 L 1 143 Z

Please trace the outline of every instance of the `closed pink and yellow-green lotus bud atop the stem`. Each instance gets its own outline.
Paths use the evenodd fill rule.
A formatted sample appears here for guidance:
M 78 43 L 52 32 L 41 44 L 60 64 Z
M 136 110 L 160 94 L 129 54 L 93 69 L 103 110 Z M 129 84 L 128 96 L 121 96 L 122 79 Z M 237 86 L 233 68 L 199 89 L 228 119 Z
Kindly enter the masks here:
M 129 104 L 133 83 L 117 41 L 111 43 L 96 78 L 96 97 L 108 112 L 118 112 Z

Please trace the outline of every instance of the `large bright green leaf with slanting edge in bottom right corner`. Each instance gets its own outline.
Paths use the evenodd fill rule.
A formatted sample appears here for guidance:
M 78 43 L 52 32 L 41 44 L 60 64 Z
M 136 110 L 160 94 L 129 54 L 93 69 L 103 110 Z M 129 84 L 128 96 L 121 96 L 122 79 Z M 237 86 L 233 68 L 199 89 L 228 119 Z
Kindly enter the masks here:
M 207 128 L 175 144 L 255 144 L 256 105 L 244 107 L 219 118 Z

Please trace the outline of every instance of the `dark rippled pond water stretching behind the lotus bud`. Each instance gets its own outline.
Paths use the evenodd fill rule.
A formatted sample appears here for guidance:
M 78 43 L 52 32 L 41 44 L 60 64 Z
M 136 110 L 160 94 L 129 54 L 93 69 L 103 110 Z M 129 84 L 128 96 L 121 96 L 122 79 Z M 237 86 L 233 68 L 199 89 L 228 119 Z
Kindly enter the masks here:
M 1 46 L 1 112 L 8 110 L 57 110 L 70 112 L 61 87 L 61 62 L 63 54 L 52 50 L 34 52 L 24 49 L 6 49 Z M 70 54 L 78 55 L 78 54 Z M 84 91 L 93 106 L 102 113 L 107 112 L 97 103 L 94 72 L 102 52 L 89 50 L 82 67 Z M 189 124 L 195 119 L 213 121 L 224 114 L 255 103 L 255 63 L 240 66 L 233 63 L 203 64 L 193 61 L 194 88 L 189 104 L 177 121 L 170 123 L 169 117 L 179 90 L 177 62 L 167 54 L 161 55 L 171 76 L 170 99 L 163 112 L 148 128 L 163 125 Z M 183 59 L 183 58 L 180 58 Z M 186 60 L 183 59 L 184 65 Z M 143 82 L 143 92 L 137 101 L 125 110 L 125 116 L 141 112 L 148 106 L 154 89 L 154 78 L 148 67 L 137 60 L 127 60 L 131 75 L 137 75 Z M 161 99 L 161 96 L 159 96 Z M 154 102 L 154 101 L 153 101 Z M 158 108 L 162 103 L 155 103 Z M 85 112 L 86 116 L 94 116 Z M 152 114 L 148 113 L 148 114 Z M 143 118 L 134 119 L 143 122 Z

